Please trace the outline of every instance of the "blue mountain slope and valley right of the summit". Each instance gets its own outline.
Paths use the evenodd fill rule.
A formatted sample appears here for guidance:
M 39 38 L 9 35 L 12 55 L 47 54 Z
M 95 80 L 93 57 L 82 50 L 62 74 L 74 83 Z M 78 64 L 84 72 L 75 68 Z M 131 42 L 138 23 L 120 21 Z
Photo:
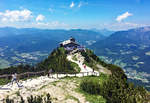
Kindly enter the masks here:
M 90 48 L 101 59 L 124 68 L 128 77 L 150 81 L 150 27 L 115 32 Z

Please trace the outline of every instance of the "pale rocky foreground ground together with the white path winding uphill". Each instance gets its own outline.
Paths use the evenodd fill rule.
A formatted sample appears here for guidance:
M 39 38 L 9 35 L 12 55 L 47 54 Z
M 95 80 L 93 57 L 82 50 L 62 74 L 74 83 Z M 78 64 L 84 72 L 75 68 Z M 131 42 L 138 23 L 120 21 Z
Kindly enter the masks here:
M 80 55 L 77 56 L 80 57 Z M 72 79 L 62 79 L 65 77 L 64 74 L 60 74 L 59 79 L 55 74 L 53 74 L 53 78 L 41 76 L 20 81 L 20 87 L 17 84 L 12 86 L 8 83 L 7 85 L 0 86 L 0 103 L 7 96 L 14 99 L 17 103 L 17 101 L 20 101 L 20 96 L 26 99 L 30 95 L 36 96 L 47 93 L 51 95 L 53 103 L 88 103 L 83 94 L 77 92 L 76 89 L 79 88 L 79 80 L 81 80 L 78 77 L 92 75 L 93 69 L 88 66 L 86 66 L 86 69 L 83 67 L 82 62 L 84 58 L 82 57 L 80 57 L 80 62 L 73 60 L 72 55 L 68 55 L 67 59 L 78 64 L 81 72 L 88 72 L 88 74 L 85 73 L 83 75 L 83 73 L 79 73 L 76 75 L 77 77 L 73 77 L 73 74 L 68 75 L 73 77 Z M 97 71 L 95 73 L 97 73 L 97 76 L 100 75 Z

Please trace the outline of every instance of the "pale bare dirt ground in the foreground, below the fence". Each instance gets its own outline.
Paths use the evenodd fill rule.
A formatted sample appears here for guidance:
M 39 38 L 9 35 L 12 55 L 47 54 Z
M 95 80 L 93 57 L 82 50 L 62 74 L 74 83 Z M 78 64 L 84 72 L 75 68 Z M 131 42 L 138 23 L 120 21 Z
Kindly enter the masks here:
M 49 93 L 53 103 L 86 103 L 85 97 L 76 92 L 75 89 L 79 86 L 77 79 L 52 79 L 46 76 L 29 79 L 22 82 L 23 87 L 18 88 L 15 84 L 12 90 L 0 90 L 0 99 L 10 98 L 15 99 L 17 103 L 20 96 L 24 99 L 30 95 L 43 95 Z M 2 101 L 0 101 L 1 103 Z

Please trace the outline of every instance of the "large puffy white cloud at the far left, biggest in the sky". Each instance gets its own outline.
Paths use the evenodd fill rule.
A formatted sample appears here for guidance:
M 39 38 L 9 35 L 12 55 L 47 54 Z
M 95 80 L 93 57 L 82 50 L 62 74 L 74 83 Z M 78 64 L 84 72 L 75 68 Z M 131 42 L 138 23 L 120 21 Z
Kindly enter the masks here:
M 18 22 L 18 21 L 28 21 L 32 18 L 32 12 L 30 10 L 6 10 L 5 12 L 0 12 L 0 20 L 3 22 Z

